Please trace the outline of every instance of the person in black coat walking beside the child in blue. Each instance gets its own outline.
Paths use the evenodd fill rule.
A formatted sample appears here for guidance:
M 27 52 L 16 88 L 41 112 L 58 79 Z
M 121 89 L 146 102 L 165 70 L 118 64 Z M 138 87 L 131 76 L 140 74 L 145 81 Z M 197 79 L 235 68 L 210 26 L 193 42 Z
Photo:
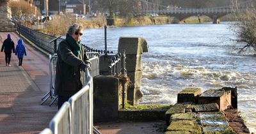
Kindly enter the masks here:
M 3 50 L 4 50 L 4 54 L 5 54 L 6 66 L 11 66 L 10 61 L 11 61 L 11 57 L 12 57 L 12 50 L 13 50 L 13 53 L 15 53 L 15 48 L 14 48 L 14 43 L 11 39 L 10 34 L 8 34 L 6 40 L 4 40 L 4 43 L 1 48 L 1 52 L 3 52 Z

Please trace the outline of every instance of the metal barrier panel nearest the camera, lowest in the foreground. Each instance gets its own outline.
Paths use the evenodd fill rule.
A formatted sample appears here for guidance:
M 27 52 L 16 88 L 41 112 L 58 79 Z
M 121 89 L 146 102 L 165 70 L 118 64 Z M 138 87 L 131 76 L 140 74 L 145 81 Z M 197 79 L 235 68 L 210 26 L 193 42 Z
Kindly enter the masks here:
M 65 102 L 60 110 L 54 115 L 49 128 L 54 134 L 72 134 L 72 119 L 71 119 L 70 103 Z

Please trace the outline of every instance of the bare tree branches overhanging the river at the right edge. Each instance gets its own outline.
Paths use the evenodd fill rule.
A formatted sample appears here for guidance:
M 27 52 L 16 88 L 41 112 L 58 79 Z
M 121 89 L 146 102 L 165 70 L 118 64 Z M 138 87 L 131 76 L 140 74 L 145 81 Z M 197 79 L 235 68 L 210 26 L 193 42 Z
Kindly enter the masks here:
M 239 52 L 244 52 L 248 48 L 253 48 L 256 51 L 256 3 L 248 4 L 246 9 L 239 8 L 239 6 L 237 0 L 234 0 L 233 9 L 238 22 L 233 30 L 237 34 L 237 41 L 246 43 Z

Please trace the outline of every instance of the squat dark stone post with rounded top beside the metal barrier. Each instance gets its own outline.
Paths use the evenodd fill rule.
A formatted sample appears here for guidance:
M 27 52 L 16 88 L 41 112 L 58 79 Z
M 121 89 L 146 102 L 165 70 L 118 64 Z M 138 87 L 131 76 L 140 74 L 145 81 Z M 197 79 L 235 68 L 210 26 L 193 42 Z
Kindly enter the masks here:
M 109 75 L 93 78 L 94 121 L 115 121 L 118 119 L 119 79 Z

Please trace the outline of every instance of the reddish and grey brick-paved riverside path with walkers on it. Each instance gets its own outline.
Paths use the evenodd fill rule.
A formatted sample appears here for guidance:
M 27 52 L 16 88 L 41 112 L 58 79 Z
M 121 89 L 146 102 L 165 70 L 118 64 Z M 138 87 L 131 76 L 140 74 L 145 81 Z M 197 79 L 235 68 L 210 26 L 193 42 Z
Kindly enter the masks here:
M 8 33 L 0 33 L 0 47 Z M 17 45 L 19 36 L 10 33 Z M 22 66 L 12 54 L 11 65 L 5 66 L 4 52 L 0 53 L 0 133 L 39 133 L 48 127 L 58 111 L 49 101 L 40 105 L 49 91 L 49 59 L 30 45 Z

